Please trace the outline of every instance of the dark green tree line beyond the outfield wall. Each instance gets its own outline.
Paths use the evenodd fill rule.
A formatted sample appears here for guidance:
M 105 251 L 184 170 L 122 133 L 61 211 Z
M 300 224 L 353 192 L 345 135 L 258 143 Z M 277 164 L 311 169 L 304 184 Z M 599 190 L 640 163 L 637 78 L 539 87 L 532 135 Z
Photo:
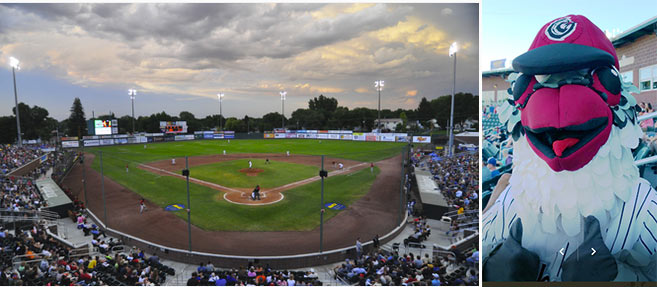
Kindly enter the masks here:
M 451 95 L 438 97 L 433 100 L 422 98 L 416 109 L 382 109 L 381 119 L 401 118 L 403 124 L 397 125 L 393 130 L 384 132 L 422 132 L 434 129 L 430 122 L 440 125 L 445 129 L 449 121 Z M 59 133 L 60 136 L 85 136 L 87 132 L 87 120 L 82 102 L 75 98 L 70 109 L 69 118 L 58 122 L 49 117 L 48 110 L 39 106 L 28 106 L 24 103 L 18 105 L 20 111 L 21 132 L 24 140 L 42 139 L 48 140 Z M 16 142 L 16 112 L 13 115 L 0 117 L 0 143 Z M 460 124 L 466 120 L 477 120 L 479 117 L 479 97 L 469 93 L 458 93 L 454 100 L 454 123 Z M 132 133 L 133 119 L 129 115 L 116 117 L 114 114 L 100 115 L 94 119 L 109 120 L 117 119 L 119 133 Z M 235 132 L 265 132 L 281 128 L 283 117 L 278 112 L 265 114 L 261 118 L 229 117 L 220 115 L 208 115 L 204 118 L 196 118 L 188 111 L 180 112 L 178 115 L 169 115 L 162 111 L 150 116 L 139 116 L 134 121 L 136 132 L 158 133 L 160 132 L 160 121 L 186 121 L 188 132 L 205 130 L 221 130 L 220 122 L 223 122 L 223 130 Z M 308 108 L 297 109 L 290 117 L 285 117 L 285 128 L 287 129 L 310 129 L 310 130 L 354 130 L 371 131 L 375 129 L 377 110 L 370 108 L 353 108 L 338 105 L 338 100 L 324 95 L 312 98 L 308 101 Z

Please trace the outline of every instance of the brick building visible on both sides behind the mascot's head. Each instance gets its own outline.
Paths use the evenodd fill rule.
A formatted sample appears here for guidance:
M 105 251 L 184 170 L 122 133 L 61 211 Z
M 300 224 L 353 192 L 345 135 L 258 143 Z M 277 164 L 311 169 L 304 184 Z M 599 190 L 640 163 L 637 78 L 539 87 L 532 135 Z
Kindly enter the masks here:
M 657 107 L 657 16 L 618 34 L 611 39 L 618 55 L 620 72 L 640 90 L 637 102 Z M 481 73 L 481 95 L 484 107 L 506 98 L 509 83 L 505 80 L 512 68 Z

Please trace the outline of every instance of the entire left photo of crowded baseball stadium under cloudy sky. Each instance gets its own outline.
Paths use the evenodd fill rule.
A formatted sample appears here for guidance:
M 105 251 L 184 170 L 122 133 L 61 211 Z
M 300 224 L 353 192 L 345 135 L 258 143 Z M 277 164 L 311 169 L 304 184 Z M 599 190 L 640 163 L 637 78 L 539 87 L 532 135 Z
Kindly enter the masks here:
M 478 11 L 0 5 L 0 285 L 478 285 Z

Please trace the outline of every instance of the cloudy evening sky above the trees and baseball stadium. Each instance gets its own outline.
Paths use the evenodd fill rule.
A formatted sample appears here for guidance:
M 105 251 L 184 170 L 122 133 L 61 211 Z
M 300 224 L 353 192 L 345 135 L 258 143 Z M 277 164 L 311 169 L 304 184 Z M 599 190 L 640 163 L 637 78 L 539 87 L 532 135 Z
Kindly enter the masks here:
M 324 94 L 350 108 L 416 108 L 421 97 L 478 91 L 478 4 L 16 4 L 0 6 L 0 115 L 19 100 L 68 117 L 190 111 L 286 115 Z

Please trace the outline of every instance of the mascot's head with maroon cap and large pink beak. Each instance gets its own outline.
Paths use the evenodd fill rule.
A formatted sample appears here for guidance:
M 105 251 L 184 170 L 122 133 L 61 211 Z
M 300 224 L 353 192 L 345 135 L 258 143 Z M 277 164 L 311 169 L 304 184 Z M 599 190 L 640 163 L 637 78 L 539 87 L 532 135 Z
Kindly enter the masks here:
M 513 60 L 521 124 L 533 151 L 554 171 L 574 171 L 607 142 L 621 100 L 616 51 L 586 17 L 568 15 L 538 32 Z

